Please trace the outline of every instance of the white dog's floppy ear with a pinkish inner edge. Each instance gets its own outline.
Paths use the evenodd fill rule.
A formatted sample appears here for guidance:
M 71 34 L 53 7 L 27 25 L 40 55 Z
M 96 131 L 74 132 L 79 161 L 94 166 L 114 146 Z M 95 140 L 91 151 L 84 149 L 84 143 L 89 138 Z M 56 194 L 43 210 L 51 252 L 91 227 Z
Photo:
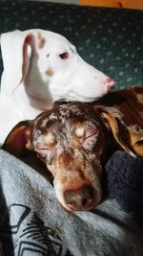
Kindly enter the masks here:
M 27 75 L 31 61 L 31 32 L 14 31 L 1 35 L 1 52 L 6 86 L 9 96 Z

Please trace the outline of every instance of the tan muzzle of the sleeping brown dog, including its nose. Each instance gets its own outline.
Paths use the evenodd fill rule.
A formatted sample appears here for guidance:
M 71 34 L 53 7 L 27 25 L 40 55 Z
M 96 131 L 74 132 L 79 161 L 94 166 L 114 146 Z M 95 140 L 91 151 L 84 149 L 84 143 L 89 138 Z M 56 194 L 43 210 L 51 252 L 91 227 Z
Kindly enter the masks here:
M 56 174 L 53 185 L 56 197 L 70 211 L 89 210 L 102 197 L 100 175 L 96 175 L 86 156 L 83 157 L 80 152 L 74 159 L 68 156 L 69 162 L 65 161 L 62 154 L 54 166 Z M 97 168 L 100 168 L 99 165 Z

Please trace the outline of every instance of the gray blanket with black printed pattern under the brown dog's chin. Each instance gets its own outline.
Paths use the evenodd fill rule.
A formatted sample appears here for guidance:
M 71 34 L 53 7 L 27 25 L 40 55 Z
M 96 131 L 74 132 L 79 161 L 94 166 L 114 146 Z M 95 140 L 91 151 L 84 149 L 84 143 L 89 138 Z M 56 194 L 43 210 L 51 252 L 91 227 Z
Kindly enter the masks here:
M 45 177 L 0 151 L 0 255 L 142 256 L 143 235 L 115 199 L 70 213 Z

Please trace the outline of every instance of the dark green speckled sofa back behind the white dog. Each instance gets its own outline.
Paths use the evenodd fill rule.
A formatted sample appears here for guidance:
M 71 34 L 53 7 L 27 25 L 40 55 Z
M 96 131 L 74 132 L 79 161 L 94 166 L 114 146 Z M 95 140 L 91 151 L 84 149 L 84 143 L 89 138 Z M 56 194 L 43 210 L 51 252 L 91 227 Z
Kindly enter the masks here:
M 1 1 L 0 33 L 33 28 L 68 37 L 85 60 L 116 81 L 116 89 L 143 82 L 142 11 Z

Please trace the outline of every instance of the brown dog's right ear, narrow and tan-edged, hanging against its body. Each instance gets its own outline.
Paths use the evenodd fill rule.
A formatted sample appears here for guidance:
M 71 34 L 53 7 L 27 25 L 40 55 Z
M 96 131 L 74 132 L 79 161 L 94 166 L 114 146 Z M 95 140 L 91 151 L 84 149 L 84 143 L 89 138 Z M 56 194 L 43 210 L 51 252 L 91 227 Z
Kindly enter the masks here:
M 135 153 L 129 149 L 129 147 L 122 141 L 119 136 L 119 127 L 117 121 L 115 120 L 112 112 L 104 106 L 96 105 L 94 106 L 95 111 L 99 114 L 100 119 L 104 126 L 112 131 L 112 135 L 116 143 L 127 153 L 131 154 L 133 157 L 136 157 Z

